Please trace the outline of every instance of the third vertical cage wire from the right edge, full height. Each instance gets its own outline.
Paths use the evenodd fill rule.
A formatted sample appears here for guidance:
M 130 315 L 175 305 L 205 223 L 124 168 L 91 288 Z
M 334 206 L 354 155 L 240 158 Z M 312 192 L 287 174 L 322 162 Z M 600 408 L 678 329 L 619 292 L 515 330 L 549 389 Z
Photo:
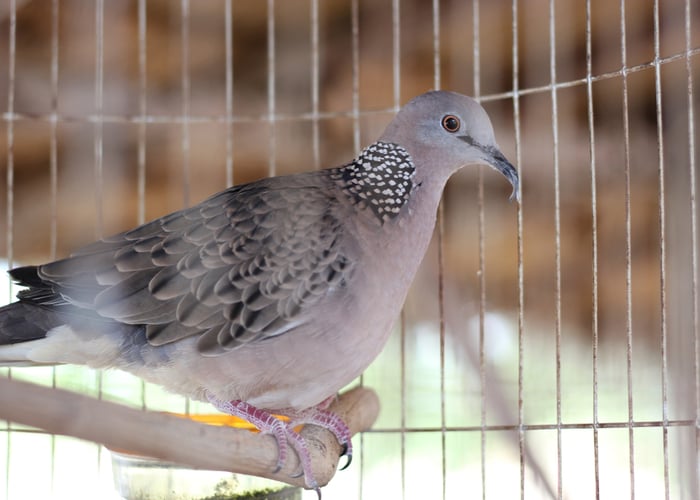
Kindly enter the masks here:
M 627 81 L 627 16 L 625 3 L 625 0 L 620 0 L 622 127 L 625 151 L 625 333 L 627 339 L 627 425 L 630 461 L 630 500 L 634 500 L 634 391 L 632 376 L 632 182 L 630 171 L 629 92 Z

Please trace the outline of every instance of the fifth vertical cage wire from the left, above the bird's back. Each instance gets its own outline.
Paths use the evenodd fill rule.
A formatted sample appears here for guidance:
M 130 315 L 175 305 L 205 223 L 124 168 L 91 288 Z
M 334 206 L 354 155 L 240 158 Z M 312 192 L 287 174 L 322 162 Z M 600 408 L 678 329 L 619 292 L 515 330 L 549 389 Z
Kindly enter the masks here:
M 180 2 L 180 80 L 182 87 L 182 200 L 190 204 L 190 2 Z

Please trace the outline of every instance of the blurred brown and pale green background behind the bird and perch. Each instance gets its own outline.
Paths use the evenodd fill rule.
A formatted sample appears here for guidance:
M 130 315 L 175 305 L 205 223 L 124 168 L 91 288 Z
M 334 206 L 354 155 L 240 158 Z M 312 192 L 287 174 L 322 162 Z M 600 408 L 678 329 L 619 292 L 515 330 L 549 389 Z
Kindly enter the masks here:
M 697 498 L 699 23 L 691 0 L 4 0 L 0 258 L 345 163 L 413 96 L 473 95 L 522 203 L 487 169 L 450 180 L 361 381 L 380 419 L 324 495 Z M 0 374 L 198 408 L 120 373 Z M 109 498 L 110 474 L 0 424 L 0 499 Z

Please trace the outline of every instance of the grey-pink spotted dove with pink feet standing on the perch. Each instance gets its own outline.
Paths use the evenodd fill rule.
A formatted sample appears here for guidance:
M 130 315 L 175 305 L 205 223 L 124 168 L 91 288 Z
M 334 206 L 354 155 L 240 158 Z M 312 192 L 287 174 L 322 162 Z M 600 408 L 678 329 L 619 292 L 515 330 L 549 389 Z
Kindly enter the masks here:
M 131 372 L 242 417 L 298 454 L 317 424 L 352 457 L 327 408 L 377 357 L 431 240 L 443 189 L 467 165 L 517 169 L 474 99 L 433 90 L 333 168 L 230 187 L 201 203 L 17 267 L 0 308 L 0 364 Z M 274 415 L 286 415 L 289 422 Z

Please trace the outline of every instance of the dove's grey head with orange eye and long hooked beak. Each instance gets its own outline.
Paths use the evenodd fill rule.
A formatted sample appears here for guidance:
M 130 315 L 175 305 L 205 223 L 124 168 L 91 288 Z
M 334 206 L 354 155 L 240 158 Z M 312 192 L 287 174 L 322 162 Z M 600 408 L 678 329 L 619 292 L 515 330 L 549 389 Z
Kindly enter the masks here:
M 511 199 L 518 200 L 518 172 L 498 148 L 486 111 L 470 97 L 441 90 L 421 94 L 401 108 L 380 140 L 409 152 L 418 182 L 445 182 L 466 165 L 486 164 L 508 179 Z M 421 171 L 424 166 L 430 171 Z

